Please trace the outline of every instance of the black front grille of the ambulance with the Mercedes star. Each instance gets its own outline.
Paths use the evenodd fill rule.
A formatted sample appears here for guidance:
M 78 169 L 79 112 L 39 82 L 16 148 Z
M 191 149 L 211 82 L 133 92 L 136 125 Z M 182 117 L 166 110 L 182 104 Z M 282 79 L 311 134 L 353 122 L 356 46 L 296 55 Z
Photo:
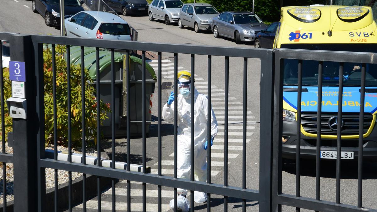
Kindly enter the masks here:
M 330 129 L 328 124 L 329 119 L 334 116 L 337 116 L 337 113 L 322 112 L 321 135 L 337 135 L 337 131 Z M 342 113 L 342 119 L 342 135 L 359 135 L 359 113 Z M 363 134 L 368 132 L 372 120 L 373 115 L 371 113 L 364 113 Z M 301 125 L 305 132 L 317 134 L 317 112 L 303 112 L 301 114 Z

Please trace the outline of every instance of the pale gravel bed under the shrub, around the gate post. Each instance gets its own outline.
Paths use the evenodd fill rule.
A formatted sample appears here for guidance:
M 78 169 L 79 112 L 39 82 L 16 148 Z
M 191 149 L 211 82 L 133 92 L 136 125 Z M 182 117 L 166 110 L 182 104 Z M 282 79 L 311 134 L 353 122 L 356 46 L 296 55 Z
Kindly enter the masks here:
M 5 145 L 5 152 L 9 154 L 13 154 L 13 148 Z M 46 149 L 54 149 L 53 145 L 49 145 Z M 2 151 L 2 146 L 0 145 L 0 151 Z M 68 147 L 65 146 L 58 146 L 58 151 L 68 151 Z M 82 149 L 81 147 L 72 148 L 72 153 L 79 153 L 81 154 Z M 97 156 L 97 150 L 92 147 L 86 148 L 86 155 Z M 3 204 L 3 164 L 0 163 L 0 206 Z M 46 189 L 52 188 L 55 186 L 55 174 L 54 169 L 46 169 Z M 72 172 L 72 180 L 75 180 L 83 175 L 78 172 Z M 68 172 L 58 170 L 58 183 L 63 184 L 68 182 Z M 13 201 L 13 164 L 7 163 L 6 164 L 6 201 Z

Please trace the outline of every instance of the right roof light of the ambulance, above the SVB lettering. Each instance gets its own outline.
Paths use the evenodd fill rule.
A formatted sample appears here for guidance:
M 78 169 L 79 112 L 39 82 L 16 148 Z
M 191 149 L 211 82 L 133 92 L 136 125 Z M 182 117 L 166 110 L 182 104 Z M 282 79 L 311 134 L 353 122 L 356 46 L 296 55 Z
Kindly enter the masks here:
M 362 6 L 349 6 L 337 10 L 337 15 L 343 22 L 356 22 L 364 18 L 368 13 L 369 9 Z

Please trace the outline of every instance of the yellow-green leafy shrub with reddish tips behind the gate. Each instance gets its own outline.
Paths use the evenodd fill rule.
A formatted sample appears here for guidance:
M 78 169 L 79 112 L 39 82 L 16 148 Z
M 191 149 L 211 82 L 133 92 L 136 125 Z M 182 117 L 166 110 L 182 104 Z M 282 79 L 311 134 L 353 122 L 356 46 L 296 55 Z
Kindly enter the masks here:
M 64 58 L 65 46 L 55 47 L 55 67 L 56 67 L 56 102 L 57 102 L 57 132 L 58 142 L 67 144 L 68 139 L 68 109 L 67 109 L 67 63 Z M 46 145 L 54 141 L 54 98 L 52 94 L 52 52 L 51 46 L 43 51 L 43 71 L 44 71 L 44 118 L 45 118 L 45 138 Z M 81 66 L 70 66 L 71 71 L 71 135 L 74 146 L 81 145 Z M 3 69 L 4 74 L 4 98 L 11 97 L 11 81 L 9 80 L 9 69 Z M 85 133 L 86 140 L 94 140 L 97 143 L 97 100 L 95 98 L 95 85 L 89 77 L 89 71 L 85 69 Z M 100 103 L 101 123 L 110 112 L 110 104 Z M 8 108 L 5 105 L 5 125 L 6 132 L 12 131 L 12 118 L 9 117 Z M 1 135 L 1 126 L 0 126 Z M 89 142 L 90 144 L 90 142 Z

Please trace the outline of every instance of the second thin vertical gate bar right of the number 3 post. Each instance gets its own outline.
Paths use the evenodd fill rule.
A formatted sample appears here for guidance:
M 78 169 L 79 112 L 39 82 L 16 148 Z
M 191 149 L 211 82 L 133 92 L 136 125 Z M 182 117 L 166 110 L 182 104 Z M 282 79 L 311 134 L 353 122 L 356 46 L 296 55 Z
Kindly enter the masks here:
M 67 45 L 68 162 L 72 163 L 70 46 Z M 72 172 L 68 172 L 68 209 L 72 211 Z

